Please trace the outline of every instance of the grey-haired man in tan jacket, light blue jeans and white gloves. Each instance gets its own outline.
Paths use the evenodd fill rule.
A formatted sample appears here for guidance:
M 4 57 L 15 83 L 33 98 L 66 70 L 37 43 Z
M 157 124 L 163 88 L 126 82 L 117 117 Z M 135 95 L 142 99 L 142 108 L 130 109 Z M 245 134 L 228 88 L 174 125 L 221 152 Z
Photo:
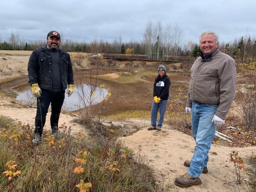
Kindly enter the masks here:
M 236 92 L 236 64 L 233 58 L 218 49 L 218 35 L 203 32 L 199 38 L 199 57 L 191 67 L 185 111 L 191 113 L 192 134 L 196 146 L 191 160 L 185 160 L 187 173 L 175 179 L 179 187 L 201 184 L 201 173 L 208 173 L 208 152 L 217 125 L 225 117 Z

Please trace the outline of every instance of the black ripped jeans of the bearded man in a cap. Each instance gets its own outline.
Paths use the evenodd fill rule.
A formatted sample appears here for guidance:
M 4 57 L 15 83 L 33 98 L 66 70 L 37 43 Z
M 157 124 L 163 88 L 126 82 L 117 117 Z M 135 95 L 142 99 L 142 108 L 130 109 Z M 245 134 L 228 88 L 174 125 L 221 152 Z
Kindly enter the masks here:
M 53 92 L 41 89 L 42 94 L 36 99 L 35 133 L 42 134 L 46 115 L 51 104 L 52 114 L 50 117 L 51 129 L 58 130 L 59 115 L 65 98 L 65 91 Z

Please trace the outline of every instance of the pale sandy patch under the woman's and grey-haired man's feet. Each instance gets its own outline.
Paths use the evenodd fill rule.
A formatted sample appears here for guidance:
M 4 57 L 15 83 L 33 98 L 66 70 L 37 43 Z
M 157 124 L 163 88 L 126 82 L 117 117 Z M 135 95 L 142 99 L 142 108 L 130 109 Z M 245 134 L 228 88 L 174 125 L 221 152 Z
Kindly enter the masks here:
M 176 176 L 183 175 L 187 167 L 185 160 L 191 159 L 194 151 L 194 139 L 186 134 L 168 127 L 159 131 L 148 131 L 146 127 L 132 136 L 120 138 L 134 154 L 140 153 L 155 170 L 160 185 L 170 191 L 179 192 L 248 192 L 250 187 L 244 181 L 247 179 L 242 171 L 242 184 L 237 185 L 236 172 L 233 162 L 229 161 L 231 151 L 238 151 L 241 157 L 250 156 L 256 152 L 256 147 L 230 148 L 212 145 L 209 152 L 208 174 L 202 174 L 202 184 L 189 188 L 180 188 L 174 185 Z

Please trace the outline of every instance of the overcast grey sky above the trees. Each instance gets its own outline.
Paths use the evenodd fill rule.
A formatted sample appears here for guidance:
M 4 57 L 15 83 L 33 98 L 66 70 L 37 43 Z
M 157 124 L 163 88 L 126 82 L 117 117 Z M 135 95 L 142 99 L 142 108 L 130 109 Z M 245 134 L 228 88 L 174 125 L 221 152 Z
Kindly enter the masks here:
M 178 22 L 183 42 L 199 41 L 211 30 L 219 42 L 250 35 L 256 38 L 256 0 L 1 0 L 0 39 L 11 32 L 25 42 L 46 40 L 56 30 L 62 39 L 90 43 L 143 39 L 149 21 L 162 27 Z

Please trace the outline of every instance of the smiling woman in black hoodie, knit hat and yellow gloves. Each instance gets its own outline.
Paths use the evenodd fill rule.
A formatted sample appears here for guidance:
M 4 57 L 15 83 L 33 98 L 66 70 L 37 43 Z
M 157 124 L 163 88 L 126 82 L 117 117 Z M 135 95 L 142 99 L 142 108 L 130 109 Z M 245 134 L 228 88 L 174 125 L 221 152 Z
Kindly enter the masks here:
M 151 127 L 149 127 L 148 130 L 156 129 L 158 131 L 161 131 L 169 97 L 170 85 L 171 81 L 170 78 L 166 75 L 166 69 L 163 65 L 160 65 L 158 67 L 158 76 L 156 77 L 154 82 L 154 99 L 151 108 Z M 160 117 L 157 122 L 158 110 L 160 111 Z

